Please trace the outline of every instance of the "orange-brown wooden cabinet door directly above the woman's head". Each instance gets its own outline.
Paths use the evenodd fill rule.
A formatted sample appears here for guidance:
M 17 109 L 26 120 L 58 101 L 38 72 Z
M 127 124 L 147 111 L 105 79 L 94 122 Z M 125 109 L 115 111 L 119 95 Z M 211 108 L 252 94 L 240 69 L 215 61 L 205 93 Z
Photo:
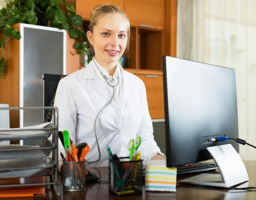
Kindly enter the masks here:
M 90 11 L 99 4 L 114 5 L 124 10 L 124 0 L 76 0 L 76 14 L 84 20 L 90 20 Z

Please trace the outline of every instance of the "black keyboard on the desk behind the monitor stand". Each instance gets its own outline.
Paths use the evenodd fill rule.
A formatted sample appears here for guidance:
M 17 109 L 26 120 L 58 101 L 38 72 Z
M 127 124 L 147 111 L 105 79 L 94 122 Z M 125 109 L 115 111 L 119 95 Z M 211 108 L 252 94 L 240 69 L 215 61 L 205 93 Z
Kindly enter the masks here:
M 218 169 L 215 163 L 192 163 L 191 166 L 177 166 L 177 175 L 195 174 L 209 172 Z

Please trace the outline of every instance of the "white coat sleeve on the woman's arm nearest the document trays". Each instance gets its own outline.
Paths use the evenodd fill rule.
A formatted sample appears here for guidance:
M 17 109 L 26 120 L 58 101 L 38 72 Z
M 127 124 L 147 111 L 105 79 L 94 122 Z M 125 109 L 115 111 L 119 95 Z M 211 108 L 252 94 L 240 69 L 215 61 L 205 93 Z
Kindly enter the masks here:
M 73 98 L 74 92 L 67 82 L 67 79 L 61 79 L 58 83 L 54 106 L 58 107 L 58 130 L 69 132 L 70 139 L 75 145 L 76 141 L 76 103 Z M 58 170 L 61 171 L 63 164 L 61 153 L 65 156 L 65 149 L 58 139 Z

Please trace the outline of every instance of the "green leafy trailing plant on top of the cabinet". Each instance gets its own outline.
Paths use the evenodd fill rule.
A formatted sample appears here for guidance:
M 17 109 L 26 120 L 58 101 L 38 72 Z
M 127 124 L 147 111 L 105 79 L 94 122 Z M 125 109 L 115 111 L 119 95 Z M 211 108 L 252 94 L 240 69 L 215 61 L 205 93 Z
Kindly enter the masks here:
M 63 8 L 67 9 L 67 12 L 64 12 Z M 2 48 L 0 78 L 4 79 L 8 71 L 6 59 L 3 56 L 6 39 L 20 39 L 20 32 L 13 28 L 13 25 L 16 23 L 37 24 L 36 13 L 44 14 L 50 26 L 65 29 L 71 38 L 76 39 L 74 48 L 77 54 L 81 55 L 82 63 L 84 63 L 84 51 L 90 53 L 87 49 L 88 40 L 83 28 L 83 20 L 80 15 L 76 14 L 73 4 L 66 4 L 65 0 L 6 0 L 6 8 L 0 10 L 0 30 L 3 31 L 3 37 L 0 38 Z

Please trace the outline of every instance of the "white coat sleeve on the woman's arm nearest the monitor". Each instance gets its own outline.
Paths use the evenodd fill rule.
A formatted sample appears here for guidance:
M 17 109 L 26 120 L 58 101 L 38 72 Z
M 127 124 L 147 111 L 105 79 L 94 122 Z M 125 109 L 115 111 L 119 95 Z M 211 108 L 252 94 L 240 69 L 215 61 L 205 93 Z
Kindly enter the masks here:
M 143 118 L 137 132 L 137 135 L 141 137 L 141 144 L 138 151 L 141 152 L 141 159 L 144 161 L 149 161 L 151 160 L 151 155 L 156 152 L 160 152 L 160 148 L 157 146 L 156 141 L 154 141 L 153 124 L 148 110 L 146 89 L 143 81 L 141 82 L 143 86 L 141 87 L 141 106 L 143 107 Z

